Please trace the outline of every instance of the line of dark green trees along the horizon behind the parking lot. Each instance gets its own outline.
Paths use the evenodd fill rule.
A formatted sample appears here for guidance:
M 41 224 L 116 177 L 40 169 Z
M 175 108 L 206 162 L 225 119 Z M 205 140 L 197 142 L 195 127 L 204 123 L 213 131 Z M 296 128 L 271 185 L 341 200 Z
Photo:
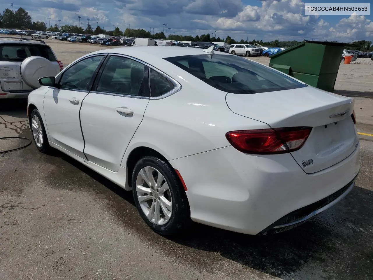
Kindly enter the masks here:
M 95 29 L 91 27 L 90 24 L 87 25 L 87 28 L 78 27 L 76 25 L 62 25 L 58 26 L 55 24 L 54 26 L 50 26 L 48 28 L 46 22 L 43 21 L 32 21 L 31 16 L 26 12 L 25 9 L 19 8 L 14 13 L 11 9 L 5 9 L 0 14 L 0 28 L 15 28 L 15 29 L 31 29 L 31 30 L 37 30 L 37 31 L 55 31 L 55 32 L 67 32 L 67 33 L 78 33 L 78 34 L 108 34 L 108 35 L 114 35 L 114 36 L 128 36 L 128 37 L 137 37 L 137 38 L 153 38 L 153 39 L 169 39 L 169 40 L 175 40 L 175 41 L 194 41 L 194 42 L 225 42 L 227 44 L 235 44 L 235 43 L 241 43 L 241 44 L 255 44 L 258 43 L 262 46 L 267 47 L 291 47 L 299 43 L 299 41 L 279 41 L 279 40 L 273 40 L 273 41 L 267 41 L 263 42 L 262 40 L 243 40 L 235 41 L 230 36 L 227 36 L 225 39 L 220 37 L 210 37 L 210 34 L 202 34 L 197 35 L 195 37 L 191 35 L 176 35 L 176 34 L 169 34 L 166 35 L 164 32 L 157 32 L 156 34 L 151 34 L 150 31 L 146 31 L 144 29 L 129 29 L 126 28 L 125 31 L 120 30 L 119 27 L 116 27 L 112 31 L 107 31 L 105 29 L 102 29 L 100 26 L 97 26 Z M 360 40 L 355 41 L 353 43 L 353 46 L 346 47 L 346 49 L 354 49 L 354 50 L 360 50 L 360 51 L 367 51 L 367 50 L 373 50 L 372 41 L 366 41 L 366 40 Z

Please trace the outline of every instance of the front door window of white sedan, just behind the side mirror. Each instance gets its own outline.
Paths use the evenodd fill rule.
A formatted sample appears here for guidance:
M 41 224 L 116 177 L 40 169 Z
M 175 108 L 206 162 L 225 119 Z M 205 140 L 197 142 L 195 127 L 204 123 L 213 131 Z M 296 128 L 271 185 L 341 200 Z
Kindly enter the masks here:
M 88 85 L 92 76 L 104 57 L 104 55 L 88 57 L 66 69 L 59 81 L 60 88 L 89 90 Z

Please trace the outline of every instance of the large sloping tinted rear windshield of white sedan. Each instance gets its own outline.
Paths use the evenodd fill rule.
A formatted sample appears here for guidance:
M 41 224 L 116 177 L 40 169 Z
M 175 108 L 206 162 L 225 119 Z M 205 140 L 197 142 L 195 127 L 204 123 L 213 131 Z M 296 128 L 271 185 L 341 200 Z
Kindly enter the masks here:
M 233 55 L 176 56 L 165 60 L 229 93 L 250 94 L 307 87 L 274 69 Z

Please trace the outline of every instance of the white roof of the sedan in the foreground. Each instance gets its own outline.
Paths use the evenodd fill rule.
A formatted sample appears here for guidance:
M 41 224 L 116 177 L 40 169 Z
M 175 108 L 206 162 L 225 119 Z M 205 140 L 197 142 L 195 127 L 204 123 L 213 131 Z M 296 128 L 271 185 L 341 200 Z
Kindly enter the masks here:
M 119 55 L 128 55 L 141 59 L 153 58 L 163 59 L 166 57 L 185 56 L 185 55 L 206 55 L 204 49 L 199 48 L 176 48 L 172 46 L 133 46 L 133 47 L 120 47 L 110 50 L 99 50 L 94 53 L 117 53 Z M 229 55 L 228 53 L 216 52 L 217 55 Z

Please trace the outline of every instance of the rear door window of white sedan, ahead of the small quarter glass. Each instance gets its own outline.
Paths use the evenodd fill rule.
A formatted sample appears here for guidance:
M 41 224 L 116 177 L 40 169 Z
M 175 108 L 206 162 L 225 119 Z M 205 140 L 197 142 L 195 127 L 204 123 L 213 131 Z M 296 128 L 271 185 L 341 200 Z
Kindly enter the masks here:
M 140 62 L 126 57 L 111 56 L 95 91 L 148 97 L 147 71 L 148 66 Z

